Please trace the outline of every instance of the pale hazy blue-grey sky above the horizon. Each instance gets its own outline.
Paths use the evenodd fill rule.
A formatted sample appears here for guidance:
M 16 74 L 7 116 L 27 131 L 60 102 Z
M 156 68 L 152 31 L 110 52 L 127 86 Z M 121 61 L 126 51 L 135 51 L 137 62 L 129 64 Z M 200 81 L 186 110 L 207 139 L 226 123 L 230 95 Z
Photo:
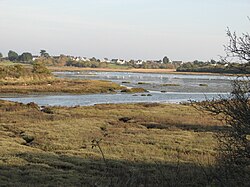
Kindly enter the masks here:
M 0 52 L 219 59 L 227 27 L 248 32 L 250 0 L 0 0 Z

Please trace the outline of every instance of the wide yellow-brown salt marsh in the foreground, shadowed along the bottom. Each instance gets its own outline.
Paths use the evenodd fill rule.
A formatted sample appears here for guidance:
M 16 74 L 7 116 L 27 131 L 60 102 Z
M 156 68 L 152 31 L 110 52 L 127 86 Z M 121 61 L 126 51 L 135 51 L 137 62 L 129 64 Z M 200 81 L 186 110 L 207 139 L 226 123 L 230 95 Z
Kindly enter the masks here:
M 206 186 L 222 129 L 186 105 L 0 101 L 0 184 Z

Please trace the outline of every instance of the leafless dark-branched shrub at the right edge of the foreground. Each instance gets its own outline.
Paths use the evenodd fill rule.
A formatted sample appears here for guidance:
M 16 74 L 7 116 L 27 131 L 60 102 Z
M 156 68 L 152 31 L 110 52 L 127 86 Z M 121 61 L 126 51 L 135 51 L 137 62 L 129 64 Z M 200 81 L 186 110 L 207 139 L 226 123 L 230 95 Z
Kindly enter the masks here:
M 250 37 L 227 31 L 226 57 L 250 63 Z M 195 103 L 195 107 L 214 114 L 225 123 L 216 134 L 218 140 L 217 177 L 221 186 L 249 186 L 250 178 L 250 79 L 238 77 L 228 97 Z

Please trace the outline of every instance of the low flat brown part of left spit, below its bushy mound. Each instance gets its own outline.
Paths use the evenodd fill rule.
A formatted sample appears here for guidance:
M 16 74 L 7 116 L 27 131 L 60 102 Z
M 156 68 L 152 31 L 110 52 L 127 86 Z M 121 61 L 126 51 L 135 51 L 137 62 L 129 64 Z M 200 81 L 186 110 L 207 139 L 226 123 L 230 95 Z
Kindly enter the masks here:
M 122 88 L 118 84 L 99 80 L 49 79 L 0 82 L 0 93 L 114 93 Z

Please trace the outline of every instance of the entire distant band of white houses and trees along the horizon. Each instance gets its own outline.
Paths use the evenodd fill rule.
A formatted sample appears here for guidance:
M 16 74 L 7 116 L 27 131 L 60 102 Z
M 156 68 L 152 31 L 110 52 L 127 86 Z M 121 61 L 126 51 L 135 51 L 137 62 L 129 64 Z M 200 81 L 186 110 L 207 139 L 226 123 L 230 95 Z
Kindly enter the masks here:
M 48 66 L 74 66 L 74 67 L 90 67 L 90 68 L 143 68 L 143 69 L 176 69 L 176 71 L 185 72 L 225 72 L 239 73 L 243 69 L 247 69 L 243 64 L 225 61 L 199 61 L 183 62 L 180 60 L 170 60 L 167 56 L 160 60 L 124 60 L 120 58 L 103 58 L 81 57 L 71 55 L 50 56 L 46 50 L 41 50 L 40 55 L 32 55 L 24 52 L 18 54 L 15 51 L 9 51 L 8 56 L 4 57 L 0 53 L 0 61 L 11 61 L 30 64 L 40 62 Z

